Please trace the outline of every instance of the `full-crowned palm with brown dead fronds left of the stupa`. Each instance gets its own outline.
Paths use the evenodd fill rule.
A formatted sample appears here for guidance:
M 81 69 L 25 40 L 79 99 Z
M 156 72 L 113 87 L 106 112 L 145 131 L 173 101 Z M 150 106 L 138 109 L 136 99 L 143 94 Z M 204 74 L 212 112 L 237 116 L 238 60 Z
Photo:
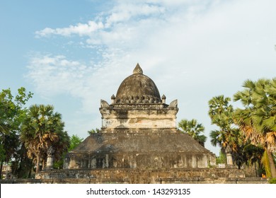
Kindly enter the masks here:
M 50 148 L 54 149 L 54 157 L 59 159 L 69 147 L 62 115 L 54 112 L 52 105 L 30 106 L 22 127 L 21 141 L 28 150 L 28 157 L 36 164 L 35 173 L 39 173 L 40 162 L 44 168 Z

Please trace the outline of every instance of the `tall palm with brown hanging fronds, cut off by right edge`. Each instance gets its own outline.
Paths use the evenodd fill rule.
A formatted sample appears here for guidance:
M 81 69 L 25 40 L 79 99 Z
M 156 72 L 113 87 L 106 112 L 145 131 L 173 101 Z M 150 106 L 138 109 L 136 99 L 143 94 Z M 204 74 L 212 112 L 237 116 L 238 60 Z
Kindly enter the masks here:
M 243 88 L 234 95 L 234 101 L 240 100 L 244 106 L 236 110 L 235 122 L 252 144 L 263 146 L 270 167 L 266 165 L 267 176 L 276 177 L 272 157 L 276 145 L 276 78 L 247 80 Z

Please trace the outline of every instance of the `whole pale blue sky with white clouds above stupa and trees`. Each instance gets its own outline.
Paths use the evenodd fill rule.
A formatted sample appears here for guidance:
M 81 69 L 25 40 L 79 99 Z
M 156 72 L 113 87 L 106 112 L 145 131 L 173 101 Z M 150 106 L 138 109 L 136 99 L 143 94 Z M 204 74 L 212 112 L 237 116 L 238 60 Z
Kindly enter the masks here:
M 69 135 L 100 128 L 139 62 L 178 121 L 209 136 L 208 100 L 231 97 L 250 78 L 275 77 L 276 1 L 0 1 L 0 88 L 24 86 L 31 104 L 52 104 Z M 238 105 L 234 103 L 234 105 Z M 207 140 L 206 147 L 214 153 Z

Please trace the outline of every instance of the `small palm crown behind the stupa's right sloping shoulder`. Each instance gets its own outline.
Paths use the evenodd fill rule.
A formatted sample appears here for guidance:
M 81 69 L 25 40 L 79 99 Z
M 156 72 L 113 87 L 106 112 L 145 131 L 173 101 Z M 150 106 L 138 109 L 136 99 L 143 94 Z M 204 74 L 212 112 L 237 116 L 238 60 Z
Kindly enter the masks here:
M 193 139 L 198 141 L 200 145 L 204 146 L 207 137 L 202 134 L 205 130 L 203 124 L 197 123 L 197 120 L 195 119 L 183 119 L 178 123 L 178 127 L 180 128 L 181 132 L 188 133 L 190 136 L 192 136 Z

